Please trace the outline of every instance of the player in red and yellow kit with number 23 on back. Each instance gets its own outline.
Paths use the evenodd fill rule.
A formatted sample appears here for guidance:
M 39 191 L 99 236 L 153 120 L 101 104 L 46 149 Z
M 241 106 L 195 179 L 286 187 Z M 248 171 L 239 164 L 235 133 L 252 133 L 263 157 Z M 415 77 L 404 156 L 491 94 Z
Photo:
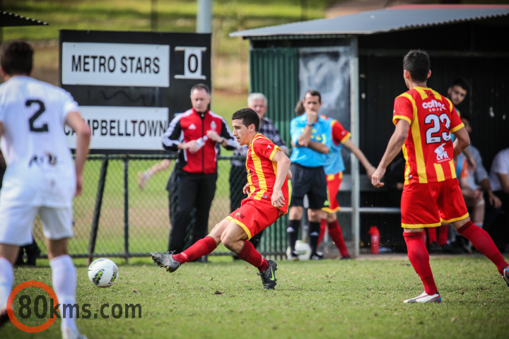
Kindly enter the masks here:
M 450 222 L 453 227 L 496 265 L 509 286 L 509 266 L 491 237 L 472 223 L 456 179 L 452 157 L 470 143 L 452 102 L 426 87 L 431 76 L 428 54 L 411 50 L 403 60 L 409 90 L 394 100 L 392 121 L 396 130 L 371 182 L 376 187 L 387 165 L 403 148 L 406 159 L 402 195 L 402 227 L 410 263 L 422 280 L 424 292 L 404 302 L 442 302 L 433 280 L 429 255 L 423 242 L 424 227 Z M 451 133 L 456 140 L 451 141 Z

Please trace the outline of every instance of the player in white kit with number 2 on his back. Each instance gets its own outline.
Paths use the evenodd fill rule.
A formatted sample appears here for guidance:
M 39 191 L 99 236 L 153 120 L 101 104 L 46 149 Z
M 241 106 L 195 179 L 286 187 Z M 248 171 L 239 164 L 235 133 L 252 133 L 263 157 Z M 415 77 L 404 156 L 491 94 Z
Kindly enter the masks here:
M 19 246 L 32 242 L 40 215 L 59 303 L 74 304 L 76 268 L 67 251 L 72 230 L 72 203 L 83 188 L 83 167 L 90 129 L 78 104 L 62 88 L 30 77 L 33 49 L 27 42 L 4 44 L 0 54 L 0 145 L 7 163 L 0 194 L 0 325 L 13 287 Z M 67 148 L 64 124 L 76 131 L 76 162 Z M 72 309 L 72 308 L 71 308 Z M 62 338 L 85 338 L 69 308 L 62 316 Z

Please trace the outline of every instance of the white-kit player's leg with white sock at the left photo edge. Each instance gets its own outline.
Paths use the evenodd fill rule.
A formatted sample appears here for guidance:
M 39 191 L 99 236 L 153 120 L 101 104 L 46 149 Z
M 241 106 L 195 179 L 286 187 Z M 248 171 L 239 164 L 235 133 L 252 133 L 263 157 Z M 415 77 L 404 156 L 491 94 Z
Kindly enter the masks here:
M 7 299 L 14 283 L 13 264 L 18 251 L 19 246 L 0 244 L 0 327 L 8 321 Z

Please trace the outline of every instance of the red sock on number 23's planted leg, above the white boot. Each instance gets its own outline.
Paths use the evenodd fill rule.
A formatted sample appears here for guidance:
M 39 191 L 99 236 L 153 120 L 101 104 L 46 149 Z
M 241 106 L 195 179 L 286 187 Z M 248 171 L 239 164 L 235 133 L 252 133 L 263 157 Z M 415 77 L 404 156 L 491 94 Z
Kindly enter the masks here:
M 408 249 L 410 263 L 421 278 L 424 291 L 428 295 L 434 295 L 438 290 L 429 266 L 429 254 L 422 239 L 422 232 L 403 232 L 403 237 L 406 242 L 406 249 Z

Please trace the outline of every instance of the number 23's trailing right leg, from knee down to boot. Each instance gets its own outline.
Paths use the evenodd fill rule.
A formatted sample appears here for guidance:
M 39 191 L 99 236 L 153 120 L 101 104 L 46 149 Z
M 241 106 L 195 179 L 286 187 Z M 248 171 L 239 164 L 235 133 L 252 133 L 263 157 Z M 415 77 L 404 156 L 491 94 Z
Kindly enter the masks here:
M 500 251 L 496 248 L 493 243 L 493 239 L 491 239 L 488 232 L 483 230 L 481 227 L 474 225 L 468 217 L 463 220 L 452 222 L 452 227 L 455 227 L 458 233 L 469 239 L 476 249 L 495 264 L 498 273 L 502 275 L 505 283 L 507 283 L 509 287 L 509 265 L 504 260 Z

